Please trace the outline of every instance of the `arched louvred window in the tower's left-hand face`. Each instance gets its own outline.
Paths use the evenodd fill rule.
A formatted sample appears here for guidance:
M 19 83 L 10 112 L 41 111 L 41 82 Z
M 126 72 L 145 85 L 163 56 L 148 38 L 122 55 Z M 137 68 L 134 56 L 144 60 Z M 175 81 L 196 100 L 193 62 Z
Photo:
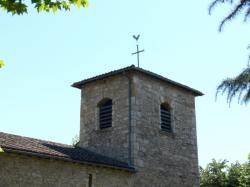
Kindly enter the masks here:
M 112 126 L 112 100 L 107 100 L 99 107 L 100 129 Z

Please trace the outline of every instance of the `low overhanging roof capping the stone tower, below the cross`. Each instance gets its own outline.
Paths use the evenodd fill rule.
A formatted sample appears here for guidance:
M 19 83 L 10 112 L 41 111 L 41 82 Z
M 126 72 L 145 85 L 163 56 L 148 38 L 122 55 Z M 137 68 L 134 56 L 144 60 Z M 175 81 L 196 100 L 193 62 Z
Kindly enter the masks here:
M 189 91 L 189 92 L 193 93 L 195 96 L 202 96 L 203 95 L 203 93 L 198 91 L 198 90 L 195 90 L 195 89 L 190 88 L 190 87 L 188 87 L 186 85 L 183 85 L 181 83 L 170 80 L 170 79 L 168 79 L 166 77 L 163 77 L 163 76 L 158 75 L 156 73 L 153 73 L 151 71 L 148 71 L 148 70 L 145 70 L 145 69 L 142 69 L 142 68 L 139 68 L 139 67 L 135 67 L 134 65 L 128 66 L 128 67 L 125 67 L 125 68 L 122 68 L 122 69 L 118 69 L 118 70 L 115 70 L 115 71 L 111 71 L 111 72 L 108 72 L 108 73 L 104 73 L 104 74 L 101 74 L 101 75 L 98 75 L 98 76 L 95 76 L 95 77 L 92 77 L 92 78 L 84 79 L 84 80 L 79 81 L 79 82 L 75 82 L 75 83 L 72 84 L 72 86 L 75 87 L 75 88 L 81 88 L 86 83 L 96 81 L 96 80 L 101 80 L 101 79 L 104 79 L 104 78 L 107 78 L 107 77 L 110 77 L 110 76 L 113 76 L 113 75 L 118 75 L 118 74 L 121 74 L 123 72 L 129 72 L 129 71 L 140 72 L 140 73 L 143 73 L 145 75 L 151 76 L 153 78 L 168 82 L 169 84 L 172 84 L 174 86 L 177 86 L 179 88 L 182 88 L 182 89 L 184 89 L 186 91 Z

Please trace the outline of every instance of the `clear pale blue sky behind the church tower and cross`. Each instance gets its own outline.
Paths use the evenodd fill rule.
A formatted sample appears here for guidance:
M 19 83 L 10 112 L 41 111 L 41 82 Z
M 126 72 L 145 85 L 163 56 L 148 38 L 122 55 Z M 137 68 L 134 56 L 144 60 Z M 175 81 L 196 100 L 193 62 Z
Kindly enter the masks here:
M 216 87 L 247 63 L 249 24 L 218 32 L 230 7 L 208 15 L 209 0 L 93 1 L 70 12 L 0 12 L 0 131 L 70 144 L 79 132 L 80 91 L 73 82 L 136 64 L 205 93 L 196 99 L 199 162 L 246 161 L 249 106 L 231 107 Z M 248 118 L 247 118 L 248 117 Z

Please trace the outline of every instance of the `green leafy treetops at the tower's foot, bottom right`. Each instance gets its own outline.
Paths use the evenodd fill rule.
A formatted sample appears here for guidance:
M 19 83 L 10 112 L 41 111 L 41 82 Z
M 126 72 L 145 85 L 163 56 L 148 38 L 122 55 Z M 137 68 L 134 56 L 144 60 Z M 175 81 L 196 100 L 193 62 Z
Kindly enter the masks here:
M 249 155 L 250 157 L 250 155 Z M 248 162 L 228 165 L 226 160 L 212 160 L 200 167 L 201 187 L 250 187 L 250 158 Z

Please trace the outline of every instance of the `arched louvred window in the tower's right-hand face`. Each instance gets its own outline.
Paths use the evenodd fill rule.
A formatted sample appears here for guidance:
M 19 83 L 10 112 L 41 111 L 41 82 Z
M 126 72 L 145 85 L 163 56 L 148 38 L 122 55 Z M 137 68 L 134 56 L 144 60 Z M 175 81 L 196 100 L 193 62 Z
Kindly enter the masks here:
M 161 129 L 165 131 L 172 131 L 171 128 L 171 111 L 168 106 L 161 104 Z

